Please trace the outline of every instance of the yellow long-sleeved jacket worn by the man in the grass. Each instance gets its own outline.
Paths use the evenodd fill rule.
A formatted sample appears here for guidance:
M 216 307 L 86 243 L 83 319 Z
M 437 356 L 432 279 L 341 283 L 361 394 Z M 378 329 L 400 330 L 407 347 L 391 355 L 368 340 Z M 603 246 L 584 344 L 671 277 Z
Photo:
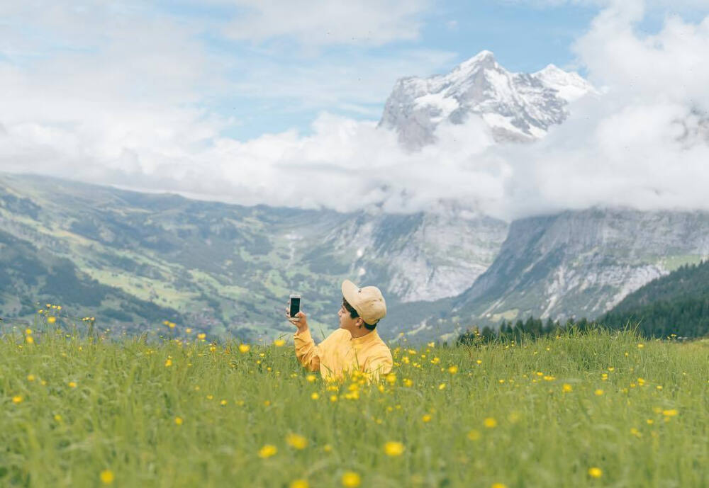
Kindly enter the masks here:
M 318 346 L 309 330 L 296 332 L 296 358 L 308 370 L 318 371 L 323 378 L 342 378 L 345 373 L 359 370 L 372 380 L 391 371 L 391 351 L 376 329 L 353 338 L 350 331 L 337 329 Z

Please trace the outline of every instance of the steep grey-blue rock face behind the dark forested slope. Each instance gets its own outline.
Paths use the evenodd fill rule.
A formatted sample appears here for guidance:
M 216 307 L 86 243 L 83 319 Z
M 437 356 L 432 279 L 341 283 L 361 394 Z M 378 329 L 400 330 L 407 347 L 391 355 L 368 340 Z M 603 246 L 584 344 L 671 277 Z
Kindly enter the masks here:
M 496 260 L 454 300 L 476 322 L 596 318 L 654 278 L 709 256 L 709 212 L 581 210 L 510 225 Z

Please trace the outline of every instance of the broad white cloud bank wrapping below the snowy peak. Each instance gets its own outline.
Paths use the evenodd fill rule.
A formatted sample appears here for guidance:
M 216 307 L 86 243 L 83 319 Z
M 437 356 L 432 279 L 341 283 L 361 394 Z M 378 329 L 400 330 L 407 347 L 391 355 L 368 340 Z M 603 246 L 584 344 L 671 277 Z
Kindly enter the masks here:
M 506 219 L 591 205 L 709 210 L 709 17 L 692 23 L 669 16 L 659 32 L 641 35 L 634 26 L 643 7 L 605 8 L 576 42 L 579 64 L 603 95 L 570 106 L 569 119 L 544 140 L 494 144 L 471 117 L 441 125 L 437 144 L 414 153 L 374 121 L 327 111 L 307 135 L 225 136 L 233 120 L 199 101 L 204 90 L 222 91 L 230 81 L 194 43 L 194 30 L 149 18 L 133 24 L 134 40 L 107 29 L 100 49 L 0 62 L 0 170 L 342 211 L 412 212 L 451 200 Z M 366 71 L 366 57 L 355 62 L 355 71 Z M 387 76 L 407 74 L 413 63 L 415 55 Z M 278 70 L 259 69 L 242 81 L 251 85 L 245 93 L 264 79 L 264 89 L 286 98 L 289 89 L 279 92 L 277 80 L 261 76 Z M 294 70 L 298 100 L 318 91 L 335 105 L 378 96 L 357 95 L 346 71 L 308 89 L 314 71 Z M 340 82 L 345 88 L 333 96 Z M 366 90 L 378 93 L 381 84 L 368 82 Z

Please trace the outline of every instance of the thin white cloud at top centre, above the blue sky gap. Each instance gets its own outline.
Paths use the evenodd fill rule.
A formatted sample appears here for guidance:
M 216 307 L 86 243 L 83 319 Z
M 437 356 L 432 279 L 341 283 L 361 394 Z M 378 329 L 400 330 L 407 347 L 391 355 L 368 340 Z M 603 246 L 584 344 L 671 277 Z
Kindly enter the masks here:
M 301 45 L 381 46 L 415 40 L 423 27 L 427 0 L 235 0 L 243 8 L 224 29 L 250 42 L 294 39 Z

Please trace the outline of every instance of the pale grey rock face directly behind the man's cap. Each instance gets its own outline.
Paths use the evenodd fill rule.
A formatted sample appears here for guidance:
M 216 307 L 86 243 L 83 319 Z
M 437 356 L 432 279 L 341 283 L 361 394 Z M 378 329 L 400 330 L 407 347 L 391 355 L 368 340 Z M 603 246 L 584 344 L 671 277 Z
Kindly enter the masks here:
M 459 295 L 493 262 L 508 224 L 457 209 L 413 215 L 359 214 L 323 242 L 352 263 L 351 274 L 380 283 L 401 302 Z

